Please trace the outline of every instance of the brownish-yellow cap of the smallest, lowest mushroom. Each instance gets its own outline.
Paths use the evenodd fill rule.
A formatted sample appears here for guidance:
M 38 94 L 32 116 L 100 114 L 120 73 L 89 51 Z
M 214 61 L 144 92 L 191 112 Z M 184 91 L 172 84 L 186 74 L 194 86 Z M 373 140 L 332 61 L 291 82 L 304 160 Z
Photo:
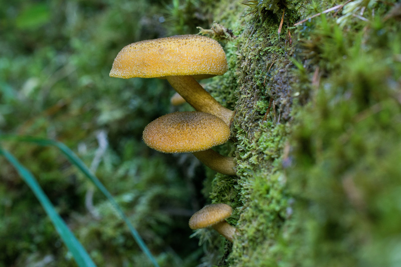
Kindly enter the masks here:
M 212 226 L 231 216 L 233 209 L 223 203 L 211 204 L 203 207 L 189 219 L 191 229 L 200 229 Z

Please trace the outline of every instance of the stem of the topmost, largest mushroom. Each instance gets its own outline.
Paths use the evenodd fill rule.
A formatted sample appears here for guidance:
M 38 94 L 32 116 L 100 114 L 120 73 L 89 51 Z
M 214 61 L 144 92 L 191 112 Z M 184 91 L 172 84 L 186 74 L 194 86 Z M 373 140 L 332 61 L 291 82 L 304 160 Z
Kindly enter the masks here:
M 166 79 L 195 110 L 213 114 L 230 125 L 234 111 L 223 107 L 193 77 L 167 76 Z

